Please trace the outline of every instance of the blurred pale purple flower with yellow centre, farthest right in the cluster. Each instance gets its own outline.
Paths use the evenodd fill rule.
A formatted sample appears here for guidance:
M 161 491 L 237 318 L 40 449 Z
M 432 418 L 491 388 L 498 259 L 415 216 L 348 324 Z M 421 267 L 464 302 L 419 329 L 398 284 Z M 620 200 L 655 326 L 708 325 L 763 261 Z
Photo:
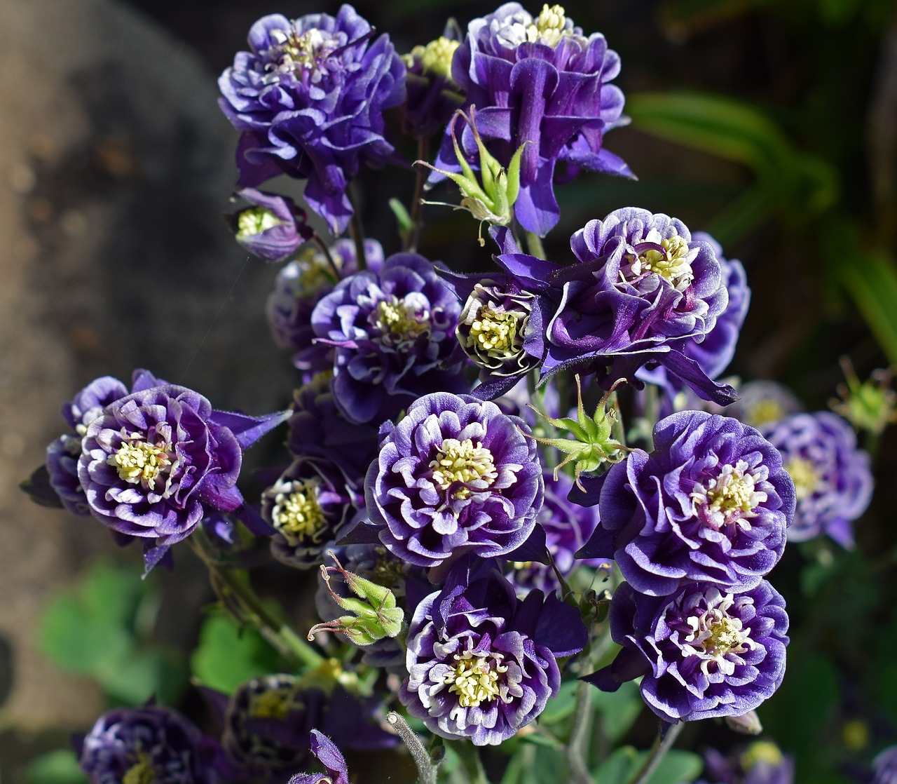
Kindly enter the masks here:
M 782 455 L 794 480 L 797 509 L 788 539 L 806 542 L 827 533 L 853 547 L 853 521 L 872 499 L 869 455 L 849 424 L 831 411 L 792 414 L 760 428 Z

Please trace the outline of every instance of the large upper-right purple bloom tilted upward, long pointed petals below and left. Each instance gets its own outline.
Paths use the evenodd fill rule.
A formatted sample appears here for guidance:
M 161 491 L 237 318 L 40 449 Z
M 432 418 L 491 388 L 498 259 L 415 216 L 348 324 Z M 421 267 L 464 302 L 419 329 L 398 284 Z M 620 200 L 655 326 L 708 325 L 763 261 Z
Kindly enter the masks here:
M 568 267 L 513 252 L 498 257 L 510 273 L 542 277 L 558 292 L 543 377 L 586 366 L 615 380 L 658 363 L 705 399 L 734 400 L 731 387 L 711 381 L 684 352 L 705 339 L 728 304 L 709 242 L 693 240 L 676 218 L 625 207 L 589 221 L 570 247 L 579 263 Z

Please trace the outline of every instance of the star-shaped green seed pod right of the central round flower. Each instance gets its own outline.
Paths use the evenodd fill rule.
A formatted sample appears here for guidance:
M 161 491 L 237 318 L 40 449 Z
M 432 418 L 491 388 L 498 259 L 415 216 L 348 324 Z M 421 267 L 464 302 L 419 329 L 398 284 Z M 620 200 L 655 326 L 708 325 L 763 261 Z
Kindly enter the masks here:
M 558 471 L 572 462 L 576 483 L 579 489 L 582 489 L 582 485 L 579 484 L 579 475 L 583 471 L 587 473 L 589 471 L 597 471 L 605 462 L 620 462 L 623 460 L 623 453 L 629 451 L 611 437 L 611 431 L 616 421 L 616 411 L 608 409 L 607 402 L 619 383 L 622 382 L 614 383 L 614 387 L 611 388 L 610 392 L 607 392 L 598 402 L 595 414 L 591 417 L 586 416 L 586 411 L 582 405 L 582 387 L 579 382 L 579 374 L 576 375 L 577 417 L 575 419 L 571 417 L 548 417 L 542 411 L 530 406 L 531 409 L 536 411 L 536 414 L 550 422 L 558 430 L 567 431 L 573 436 L 572 438 L 539 438 L 530 436 L 535 438 L 540 444 L 553 446 L 566 455 L 562 462 L 554 468 L 555 480 L 557 479 Z

